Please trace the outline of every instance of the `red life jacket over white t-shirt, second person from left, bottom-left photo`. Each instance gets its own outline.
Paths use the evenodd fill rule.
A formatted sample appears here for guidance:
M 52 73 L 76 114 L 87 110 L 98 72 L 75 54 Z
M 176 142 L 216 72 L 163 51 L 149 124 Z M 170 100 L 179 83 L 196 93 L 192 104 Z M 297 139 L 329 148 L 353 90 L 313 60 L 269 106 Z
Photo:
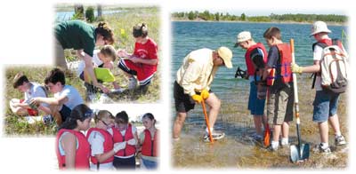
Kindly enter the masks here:
M 92 131 L 99 131 L 101 133 L 101 135 L 104 137 L 104 139 L 105 139 L 104 140 L 104 144 L 103 144 L 104 153 L 107 153 L 110 150 L 112 150 L 112 148 L 114 146 L 114 142 L 112 140 L 112 136 L 109 133 L 109 131 L 102 130 L 102 129 L 99 129 L 99 128 L 91 128 L 86 133 L 86 138 L 87 139 L 90 137 L 90 134 L 92 133 Z M 98 163 L 98 160 L 93 155 L 90 156 L 90 160 L 93 162 L 93 164 L 97 164 Z M 108 162 L 112 162 L 112 161 L 114 161 L 114 156 L 109 157 L 107 160 L 105 160 L 104 162 L 101 162 L 101 163 L 108 163 Z

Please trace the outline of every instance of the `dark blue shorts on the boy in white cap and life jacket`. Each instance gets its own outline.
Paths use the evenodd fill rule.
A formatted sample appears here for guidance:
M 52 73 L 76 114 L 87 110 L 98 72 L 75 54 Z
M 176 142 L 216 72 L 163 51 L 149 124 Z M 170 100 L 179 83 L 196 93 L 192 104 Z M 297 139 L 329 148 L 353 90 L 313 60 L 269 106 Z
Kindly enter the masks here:
M 248 98 L 248 110 L 251 115 L 263 115 L 265 99 L 257 98 L 257 86 L 255 82 L 250 83 L 250 96 Z

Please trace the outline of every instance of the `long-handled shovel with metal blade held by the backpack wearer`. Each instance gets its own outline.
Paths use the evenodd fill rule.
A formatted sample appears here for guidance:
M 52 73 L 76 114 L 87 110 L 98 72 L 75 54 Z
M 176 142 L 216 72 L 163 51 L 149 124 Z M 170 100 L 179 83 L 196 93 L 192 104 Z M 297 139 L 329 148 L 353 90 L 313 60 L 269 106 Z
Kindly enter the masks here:
M 290 39 L 290 48 L 292 51 L 292 63 L 295 63 L 295 41 Z M 309 158 L 309 144 L 302 144 L 300 135 L 300 119 L 298 105 L 298 89 L 296 85 L 296 75 L 293 73 L 293 87 L 295 94 L 295 120 L 296 120 L 296 135 L 298 137 L 298 145 L 290 146 L 290 160 L 292 162 L 304 162 Z

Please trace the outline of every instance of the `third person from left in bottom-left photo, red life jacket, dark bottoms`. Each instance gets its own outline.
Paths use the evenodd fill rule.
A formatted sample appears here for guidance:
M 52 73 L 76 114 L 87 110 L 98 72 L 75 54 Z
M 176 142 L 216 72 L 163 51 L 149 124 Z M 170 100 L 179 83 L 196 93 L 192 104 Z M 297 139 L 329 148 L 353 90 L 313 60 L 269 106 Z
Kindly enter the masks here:
M 138 142 L 137 129 L 128 123 L 128 115 L 125 111 L 117 113 L 115 117 L 117 126 L 113 129 L 114 143 L 124 143 L 124 148 L 114 156 L 114 167 L 116 169 L 134 169 L 136 160 L 136 144 Z

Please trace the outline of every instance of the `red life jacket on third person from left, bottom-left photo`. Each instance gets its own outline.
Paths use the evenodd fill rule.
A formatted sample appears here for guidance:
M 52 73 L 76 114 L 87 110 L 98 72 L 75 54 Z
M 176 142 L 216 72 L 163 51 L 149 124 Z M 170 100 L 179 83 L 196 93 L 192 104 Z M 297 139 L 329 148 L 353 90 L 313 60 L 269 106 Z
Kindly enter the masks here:
M 124 142 L 124 141 L 128 141 L 128 140 L 134 138 L 133 128 L 132 128 L 132 125 L 130 123 L 128 123 L 128 126 L 126 128 L 124 137 L 121 135 L 120 130 L 117 130 L 115 128 L 112 129 L 112 133 L 113 133 L 112 137 L 113 137 L 113 140 L 114 140 L 114 144 L 115 143 L 121 143 L 121 142 Z M 117 154 L 115 154 L 115 155 L 117 155 L 117 156 L 130 156 L 130 155 L 132 155 L 134 153 L 136 153 L 136 147 L 132 146 L 132 145 L 129 145 L 129 144 L 126 144 L 125 149 L 117 151 Z

